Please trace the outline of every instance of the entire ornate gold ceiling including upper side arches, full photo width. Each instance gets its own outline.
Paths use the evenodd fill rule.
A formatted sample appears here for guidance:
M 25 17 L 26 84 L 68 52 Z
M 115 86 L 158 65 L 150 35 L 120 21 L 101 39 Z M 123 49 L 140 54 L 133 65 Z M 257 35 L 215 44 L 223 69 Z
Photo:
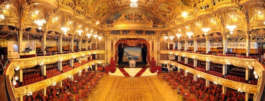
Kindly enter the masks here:
M 193 36 L 204 34 L 204 27 L 210 27 L 209 34 L 226 35 L 225 26 L 229 24 L 236 23 L 235 30 L 243 32 L 265 25 L 264 0 L 138 0 L 136 8 L 130 4 L 130 0 L 1 0 L 0 14 L 6 19 L 0 24 L 23 30 L 38 28 L 34 20 L 44 19 L 47 23 L 43 30 L 61 33 L 61 27 L 69 27 L 69 34 L 78 35 L 77 30 L 82 29 L 85 35 L 91 30 L 111 30 L 108 26 L 114 26 L 113 21 L 122 14 L 136 12 L 144 14 L 145 20 L 152 20 L 155 30 L 180 33 L 183 37 L 186 32 L 194 32 Z M 183 12 L 187 12 L 187 17 L 182 16 Z

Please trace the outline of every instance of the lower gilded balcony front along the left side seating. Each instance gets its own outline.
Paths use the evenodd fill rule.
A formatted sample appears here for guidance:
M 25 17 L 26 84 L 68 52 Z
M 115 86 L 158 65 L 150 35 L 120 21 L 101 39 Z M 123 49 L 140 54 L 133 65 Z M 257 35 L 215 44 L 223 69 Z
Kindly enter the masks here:
M 72 75 L 78 73 L 80 70 L 87 68 L 88 66 L 92 65 L 93 63 L 105 63 L 105 61 L 102 61 L 102 60 L 90 61 L 88 63 L 85 63 L 85 64 L 77 67 L 77 68 L 74 68 L 74 69 L 67 71 L 65 73 L 62 73 L 60 75 L 54 76 L 52 78 L 49 78 L 49 79 L 46 79 L 43 81 L 39 81 L 39 82 L 35 82 L 35 83 L 29 84 L 26 86 L 22 86 L 22 87 L 17 87 L 17 88 L 13 87 L 15 96 L 16 97 L 24 96 L 24 95 L 27 95 L 27 93 L 29 93 L 29 92 L 36 92 L 38 90 L 43 89 L 44 87 L 51 86 L 54 82 L 59 82 L 59 81 L 62 81 L 64 79 L 67 79 L 67 78 L 69 78 L 69 76 L 72 76 Z M 11 64 L 12 64 L 12 61 L 11 61 Z M 7 83 L 12 84 L 12 82 L 7 82 Z

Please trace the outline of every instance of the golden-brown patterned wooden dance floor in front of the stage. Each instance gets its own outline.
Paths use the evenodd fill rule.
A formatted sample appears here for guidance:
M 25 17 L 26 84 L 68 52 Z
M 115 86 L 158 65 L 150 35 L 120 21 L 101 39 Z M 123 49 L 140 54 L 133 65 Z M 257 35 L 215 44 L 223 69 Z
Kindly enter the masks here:
M 82 101 L 182 101 L 161 76 L 114 77 L 104 75 Z

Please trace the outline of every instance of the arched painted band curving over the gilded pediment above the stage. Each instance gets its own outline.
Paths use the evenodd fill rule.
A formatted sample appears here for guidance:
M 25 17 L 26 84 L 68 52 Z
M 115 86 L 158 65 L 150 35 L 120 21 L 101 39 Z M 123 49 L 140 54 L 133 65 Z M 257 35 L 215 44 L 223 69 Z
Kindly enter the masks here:
M 154 24 L 163 24 L 163 22 L 161 20 L 159 20 L 159 18 L 154 15 L 151 12 L 142 10 L 142 9 L 124 9 L 115 13 L 110 14 L 110 16 L 108 18 L 106 18 L 105 23 L 107 24 L 111 24 L 113 23 L 113 20 L 117 20 L 119 17 L 121 17 L 122 14 L 130 14 L 130 13 L 138 13 L 138 14 L 144 14 L 147 19 L 149 20 L 153 20 Z

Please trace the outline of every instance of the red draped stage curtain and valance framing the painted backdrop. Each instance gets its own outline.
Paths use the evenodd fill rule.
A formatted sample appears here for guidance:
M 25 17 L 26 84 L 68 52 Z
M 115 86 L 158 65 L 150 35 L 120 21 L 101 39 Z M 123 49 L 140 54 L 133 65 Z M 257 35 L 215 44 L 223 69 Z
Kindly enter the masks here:
M 115 43 L 115 61 L 118 62 L 118 46 L 119 45 L 127 45 L 127 46 L 137 46 L 139 44 L 146 44 L 147 47 L 147 58 L 146 58 L 146 62 L 147 64 L 149 64 L 150 62 L 150 44 L 147 40 L 144 39 L 120 39 Z

